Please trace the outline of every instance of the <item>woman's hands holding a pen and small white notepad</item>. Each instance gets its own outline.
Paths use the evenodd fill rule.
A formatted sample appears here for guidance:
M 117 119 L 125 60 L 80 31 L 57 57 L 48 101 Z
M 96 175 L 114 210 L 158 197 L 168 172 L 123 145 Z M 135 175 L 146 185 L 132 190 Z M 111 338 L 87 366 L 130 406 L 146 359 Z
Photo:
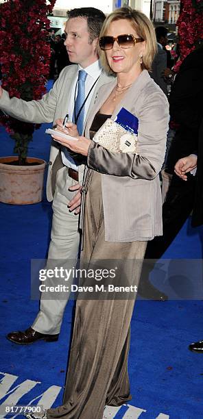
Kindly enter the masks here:
M 55 129 L 58 131 L 63 132 L 64 134 L 68 134 L 71 137 L 77 138 L 77 140 L 67 140 L 67 138 L 61 138 L 56 135 L 52 135 L 53 140 L 56 142 L 59 142 L 64 147 L 67 147 L 68 149 L 75 151 L 75 153 L 79 153 L 82 155 L 88 154 L 88 148 L 91 144 L 91 140 L 88 140 L 88 138 L 82 137 L 78 135 L 77 127 L 73 123 L 67 122 L 66 128 L 63 129 L 62 127 L 62 119 L 56 120 L 56 127 Z

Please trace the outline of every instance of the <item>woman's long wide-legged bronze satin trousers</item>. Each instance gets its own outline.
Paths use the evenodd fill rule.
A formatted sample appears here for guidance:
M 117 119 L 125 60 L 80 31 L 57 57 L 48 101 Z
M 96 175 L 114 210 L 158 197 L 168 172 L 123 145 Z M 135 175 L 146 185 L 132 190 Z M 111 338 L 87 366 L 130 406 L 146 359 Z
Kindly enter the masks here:
M 83 260 L 143 259 L 146 245 L 105 242 L 101 175 L 93 171 L 86 194 Z M 132 267 L 138 285 L 141 264 Z M 128 352 L 134 299 L 77 299 L 64 404 L 49 409 L 48 419 L 102 419 L 105 405 L 131 400 Z

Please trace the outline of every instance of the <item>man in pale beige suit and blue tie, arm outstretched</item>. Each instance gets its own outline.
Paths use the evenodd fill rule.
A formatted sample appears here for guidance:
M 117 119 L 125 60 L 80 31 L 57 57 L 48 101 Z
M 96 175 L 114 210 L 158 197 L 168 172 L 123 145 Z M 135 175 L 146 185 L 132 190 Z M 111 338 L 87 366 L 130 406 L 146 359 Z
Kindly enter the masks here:
M 110 80 L 101 71 L 97 53 L 97 41 L 104 19 L 104 13 L 95 8 L 71 10 L 65 27 L 67 38 L 64 45 L 69 60 L 78 65 L 65 67 L 50 92 L 39 101 L 25 102 L 21 99 L 10 99 L 8 92 L 0 88 L 0 108 L 21 120 L 35 123 L 53 121 L 53 125 L 58 118 L 64 118 L 69 114 L 69 118 L 77 123 L 81 135 L 97 90 Z M 53 199 L 48 262 L 51 259 L 69 259 L 74 263 L 77 261 L 80 242 L 77 201 L 80 196 L 83 170 L 84 166 L 74 160 L 67 149 L 61 149 L 56 142 L 53 142 L 47 177 L 47 199 L 48 201 Z M 74 198 L 73 191 L 77 191 Z M 40 312 L 32 327 L 26 331 L 8 333 L 8 339 L 16 344 L 30 344 L 37 340 L 46 342 L 58 340 L 68 298 L 67 295 L 66 299 L 60 300 L 41 299 Z

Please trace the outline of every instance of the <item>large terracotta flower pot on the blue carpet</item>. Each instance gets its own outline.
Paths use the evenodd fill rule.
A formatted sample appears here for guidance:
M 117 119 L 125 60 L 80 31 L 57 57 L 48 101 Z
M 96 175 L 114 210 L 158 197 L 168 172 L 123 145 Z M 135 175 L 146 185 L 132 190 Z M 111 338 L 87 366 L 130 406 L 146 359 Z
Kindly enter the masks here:
M 0 157 L 0 201 L 17 205 L 42 201 L 45 160 L 27 157 L 29 166 L 12 164 L 17 160 L 14 156 Z

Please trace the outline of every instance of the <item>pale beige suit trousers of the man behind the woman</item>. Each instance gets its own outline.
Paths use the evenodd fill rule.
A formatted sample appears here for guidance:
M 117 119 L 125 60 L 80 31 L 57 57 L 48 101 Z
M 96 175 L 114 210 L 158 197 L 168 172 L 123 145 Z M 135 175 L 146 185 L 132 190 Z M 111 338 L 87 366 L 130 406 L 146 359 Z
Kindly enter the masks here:
M 69 191 L 70 186 L 77 183 L 71 179 L 66 166 L 60 168 L 56 175 L 56 189 L 53 196 L 53 219 L 51 227 L 51 242 L 47 259 L 47 268 L 58 265 L 61 259 L 76 264 L 80 244 L 80 233 L 78 231 L 78 215 L 69 212 L 67 205 L 73 198 L 75 192 Z M 56 279 L 57 281 L 57 279 Z M 46 279 L 49 285 L 49 279 Z M 53 280 L 51 281 L 53 285 Z M 57 285 L 57 284 L 56 284 Z M 55 335 L 60 333 L 62 316 L 69 299 L 69 293 L 64 294 L 61 299 L 51 293 L 51 299 L 40 300 L 40 311 L 34 320 L 32 328 L 40 333 Z

